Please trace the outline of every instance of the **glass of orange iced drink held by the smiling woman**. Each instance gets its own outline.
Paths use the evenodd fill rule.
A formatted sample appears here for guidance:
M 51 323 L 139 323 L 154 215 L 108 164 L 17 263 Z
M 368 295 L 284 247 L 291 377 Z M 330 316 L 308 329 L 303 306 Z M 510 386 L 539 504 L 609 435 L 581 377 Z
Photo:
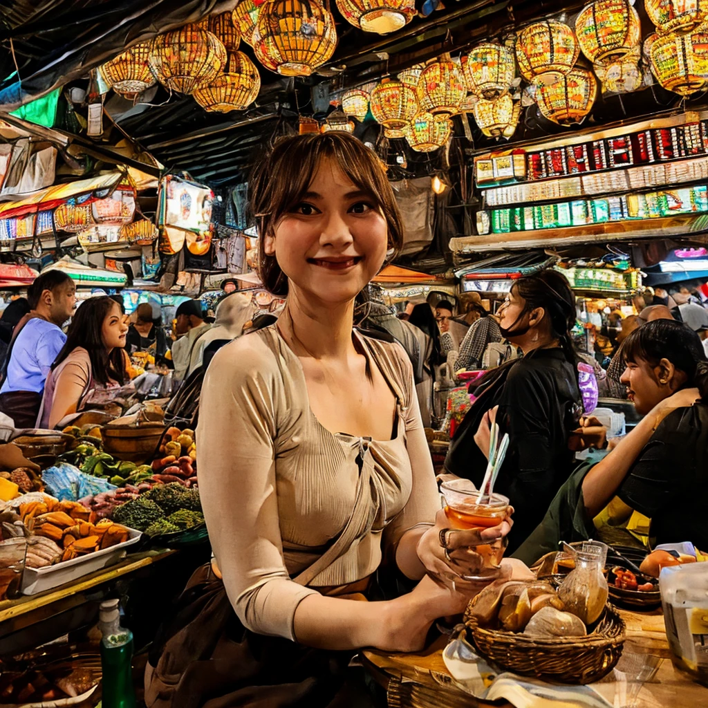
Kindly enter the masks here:
M 445 516 L 451 529 L 486 529 L 501 524 L 506 517 L 509 500 L 502 494 L 493 493 L 484 498 L 468 479 L 452 479 L 440 485 Z M 462 576 L 464 580 L 480 581 L 496 578 L 506 549 L 506 537 L 491 542 L 481 542 L 473 547 L 477 556 L 472 572 Z

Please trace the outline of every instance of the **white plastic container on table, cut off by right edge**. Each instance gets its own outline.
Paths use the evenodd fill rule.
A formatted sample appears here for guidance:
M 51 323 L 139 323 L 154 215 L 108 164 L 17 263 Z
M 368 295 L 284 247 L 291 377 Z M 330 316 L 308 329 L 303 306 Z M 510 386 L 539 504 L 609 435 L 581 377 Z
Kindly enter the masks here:
M 708 681 L 708 562 L 662 568 L 659 590 L 676 663 Z

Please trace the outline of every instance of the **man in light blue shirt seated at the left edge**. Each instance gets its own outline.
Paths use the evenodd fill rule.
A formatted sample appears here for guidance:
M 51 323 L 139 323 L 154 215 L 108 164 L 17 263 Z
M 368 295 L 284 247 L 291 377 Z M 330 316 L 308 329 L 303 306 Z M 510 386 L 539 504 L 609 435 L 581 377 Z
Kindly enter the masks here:
M 35 427 L 45 379 L 67 341 L 60 327 L 74 312 L 76 286 L 61 270 L 48 270 L 28 287 L 27 299 L 32 309 L 13 333 L 0 389 L 0 412 L 16 428 Z

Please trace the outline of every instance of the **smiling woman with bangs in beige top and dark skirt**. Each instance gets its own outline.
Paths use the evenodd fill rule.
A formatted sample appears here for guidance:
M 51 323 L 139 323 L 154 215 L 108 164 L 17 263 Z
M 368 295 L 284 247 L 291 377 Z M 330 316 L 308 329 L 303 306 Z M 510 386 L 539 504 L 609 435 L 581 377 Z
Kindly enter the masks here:
M 474 546 L 511 521 L 447 529 L 411 362 L 353 329 L 355 297 L 402 241 L 375 153 L 338 132 L 286 137 L 249 186 L 261 280 L 287 305 L 207 370 L 198 462 L 215 558 L 155 642 L 146 702 L 369 705 L 350 659 L 421 649 L 481 589 L 459 577 Z

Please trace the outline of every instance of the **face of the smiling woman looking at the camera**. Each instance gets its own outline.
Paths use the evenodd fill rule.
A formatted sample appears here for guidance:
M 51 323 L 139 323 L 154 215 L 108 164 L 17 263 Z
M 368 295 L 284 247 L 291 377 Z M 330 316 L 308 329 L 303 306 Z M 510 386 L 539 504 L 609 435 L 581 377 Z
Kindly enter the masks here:
M 302 200 L 265 236 L 291 293 L 321 304 L 343 304 L 379 272 L 386 258 L 387 224 L 370 195 L 323 160 Z

